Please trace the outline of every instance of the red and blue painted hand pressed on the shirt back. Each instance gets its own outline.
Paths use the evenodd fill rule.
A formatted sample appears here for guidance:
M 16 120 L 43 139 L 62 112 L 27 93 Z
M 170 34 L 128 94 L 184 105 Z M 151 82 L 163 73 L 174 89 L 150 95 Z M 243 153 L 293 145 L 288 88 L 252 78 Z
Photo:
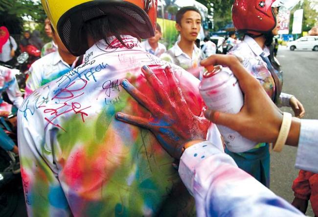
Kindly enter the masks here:
M 123 80 L 121 85 L 151 113 L 151 118 L 123 113 L 117 113 L 116 118 L 149 129 L 172 157 L 180 159 L 185 143 L 205 139 L 210 122 L 192 113 L 171 67 L 164 70 L 167 83 L 162 83 L 147 66 L 142 67 L 142 72 L 155 91 L 157 102 L 138 91 L 127 80 Z M 167 87 L 169 91 L 165 90 Z

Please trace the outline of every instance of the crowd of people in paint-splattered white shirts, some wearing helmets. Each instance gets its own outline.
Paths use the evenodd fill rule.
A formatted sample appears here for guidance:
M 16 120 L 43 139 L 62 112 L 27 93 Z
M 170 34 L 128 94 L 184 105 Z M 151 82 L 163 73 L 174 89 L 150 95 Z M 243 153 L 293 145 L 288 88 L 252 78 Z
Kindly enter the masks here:
M 233 24 L 244 36 L 229 34 L 228 55 L 214 55 L 208 37 L 196 45 L 202 15 L 193 6 L 178 10 L 180 38 L 167 49 L 156 0 L 42 2 L 52 41 L 23 33 L 20 50 L 32 45 L 42 56 L 28 70 L 24 100 L 14 70 L 0 66 L 1 92 L 18 108 L 19 147 L 1 131 L 0 145 L 20 156 L 29 216 L 292 217 L 306 213 L 308 200 L 318 216 L 318 122 L 300 121 L 304 107 L 282 93 L 270 52 L 279 8 L 295 0 L 235 0 Z M 247 22 L 260 11 L 267 17 Z M 17 48 L 1 26 L 1 63 L 12 66 Z M 211 65 L 237 77 L 240 113 L 205 111 L 198 86 Z M 7 116 L 12 106 L 0 100 Z M 258 144 L 237 151 L 217 124 Z M 294 206 L 269 190 L 270 143 L 298 146 Z

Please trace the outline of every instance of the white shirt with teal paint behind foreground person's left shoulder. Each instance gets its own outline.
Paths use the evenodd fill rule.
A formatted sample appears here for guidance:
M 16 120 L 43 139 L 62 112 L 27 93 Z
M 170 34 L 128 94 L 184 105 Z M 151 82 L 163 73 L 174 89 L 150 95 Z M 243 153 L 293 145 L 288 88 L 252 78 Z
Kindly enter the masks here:
M 25 97 L 29 96 L 39 87 L 74 69 L 77 60 L 78 58 L 76 58 L 72 66 L 69 66 L 63 61 L 59 52 L 55 51 L 35 61 L 29 69 L 29 77 L 26 80 Z

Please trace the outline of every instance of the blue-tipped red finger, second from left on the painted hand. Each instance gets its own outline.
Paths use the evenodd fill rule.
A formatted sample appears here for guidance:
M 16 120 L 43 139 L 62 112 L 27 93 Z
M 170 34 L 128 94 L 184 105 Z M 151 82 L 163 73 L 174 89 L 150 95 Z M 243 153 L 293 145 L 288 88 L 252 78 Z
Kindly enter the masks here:
M 163 111 L 156 103 L 138 91 L 128 80 L 124 79 L 121 82 L 121 86 L 152 114 L 155 114 L 156 116 L 164 115 Z

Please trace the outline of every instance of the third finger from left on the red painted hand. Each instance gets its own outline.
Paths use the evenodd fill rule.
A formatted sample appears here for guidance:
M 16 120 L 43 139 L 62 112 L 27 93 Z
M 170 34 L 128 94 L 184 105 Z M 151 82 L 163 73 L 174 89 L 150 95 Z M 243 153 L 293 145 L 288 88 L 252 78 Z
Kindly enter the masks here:
M 148 66 L 143 66 L 141 68 L 141 71 L 145 74 L 146 79 L 152 86 L 153 90 L 155 91 L 155 94 L 159 97 L 159 100 L 162 101 L 165 98 L 169 99 L 169 96 L 165 91 L 162 82 L 158 79 L 156 74 Z

